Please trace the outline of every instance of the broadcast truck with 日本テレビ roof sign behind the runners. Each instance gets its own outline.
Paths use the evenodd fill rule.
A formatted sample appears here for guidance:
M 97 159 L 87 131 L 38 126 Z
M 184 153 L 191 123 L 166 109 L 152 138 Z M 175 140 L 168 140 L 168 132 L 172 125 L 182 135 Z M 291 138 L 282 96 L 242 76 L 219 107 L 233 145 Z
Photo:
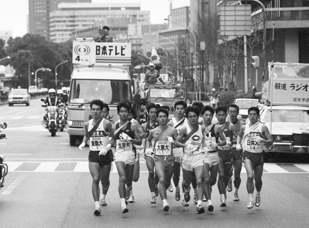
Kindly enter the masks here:
M 70 145 L 83 139 L 84 123 L 92 118 L 92 100 L 108 104 L 108 120 L 112 123 L 119 119 L 116 106 L 120 101 L 129 100 L 138 106 L 133 100 L 129 73 L 131 44 L 75 41 L 73 64 L 68 105 Z

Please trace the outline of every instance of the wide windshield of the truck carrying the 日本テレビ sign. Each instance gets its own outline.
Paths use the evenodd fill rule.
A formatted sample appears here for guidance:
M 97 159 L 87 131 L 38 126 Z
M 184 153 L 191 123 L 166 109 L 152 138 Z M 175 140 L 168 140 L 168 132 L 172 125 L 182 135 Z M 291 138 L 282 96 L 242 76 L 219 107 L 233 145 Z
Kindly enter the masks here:
M 112 104 L 131 100 L 130 81 L 75 79 L 71 83 L 70 103 L 101 100 Z

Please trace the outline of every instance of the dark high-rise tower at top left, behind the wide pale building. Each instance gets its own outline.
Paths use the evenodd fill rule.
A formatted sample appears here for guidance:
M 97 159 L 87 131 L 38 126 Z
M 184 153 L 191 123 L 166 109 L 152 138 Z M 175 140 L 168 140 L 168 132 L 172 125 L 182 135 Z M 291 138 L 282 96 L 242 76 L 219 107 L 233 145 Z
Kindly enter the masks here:
M 87 2 L 91 0 L 28 0 L 29 33 L 39 34 L 49 39 L 49 14 L 57 10 L 61 2 Z

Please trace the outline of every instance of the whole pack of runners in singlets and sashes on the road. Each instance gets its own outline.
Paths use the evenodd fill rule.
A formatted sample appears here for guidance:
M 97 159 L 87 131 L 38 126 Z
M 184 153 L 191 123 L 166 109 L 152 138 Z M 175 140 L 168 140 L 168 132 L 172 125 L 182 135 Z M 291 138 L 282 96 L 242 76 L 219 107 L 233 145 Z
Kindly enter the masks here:
M 149 171 L 148 185 L 150 203 L 156 203 L 160 195 L 163 210 L 169 210 L 167 189 L 173 191 L 180 201 L 180 167 L 183 181 L 182 205 L 189 206 L 191 185 L 193 201 L 197 204 L 196 213 L 205 212 L 202 202 L 207 203 L 208 211 L 213 211 L 211 202 L 212 186 L 217 181 L 220 193 L 220 206 L 226 206 L 226 190 L 232 191 L 234 170 L 234 201 L 239 201 L 240 171 L 242 162 L 247 171 L 249 203 L 260 205 L 261 176 L 264 164 L 264 145 L 272 145 L 273 140 L 267 127 L 258 122 L 259 109 L 248 110 L 249 124 L 237 119 L 239 107 L 231 105 L 228 110 L 203 106 L 201 102 L 188 106 L 184 101 L 174 104 L 176 117 L 169 121 L 169 107 L 150 103 L 146 106 L 149 121 L 139 125 L 134 119 L 135 110 L 129 101 L 117 105 L 120 120 L 114 125 L 107 120 L 109 107 L 100 100 L 90 103 L 93 119 L 84 124 L 85 136 L 79 149 L 83 150 L 90 140 L 89 170 L 92 176 L 92 194 L 95 201 L 95 215 L 101 213 L 100 205 L 106 206 L 105 196 L 109 188 L 109 173 L 114 160 L 119 174 L 118 191 L 121 212 L 128 212 L 128 203 L 134 202 L 133 181 L 139 179 L 139 159 L 144 157 Z M 214 113 L 218 119 L 213 120 Z M 229 120 L 227 121 L 227 113 Z M 115 146 L 112 152 L 111 147 Z M 102 196 L 99 201 L 102 184 Z M 256 197 L 253 199 L 254 181 Z

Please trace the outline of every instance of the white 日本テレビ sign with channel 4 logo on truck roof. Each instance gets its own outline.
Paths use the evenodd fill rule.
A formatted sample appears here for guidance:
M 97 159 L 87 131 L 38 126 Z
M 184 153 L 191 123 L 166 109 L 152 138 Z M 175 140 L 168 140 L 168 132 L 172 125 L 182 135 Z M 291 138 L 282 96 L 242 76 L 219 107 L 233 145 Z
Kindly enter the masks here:
M 131 44 L 73 42 L 72 63 L 96 65 L 130 65 Z

